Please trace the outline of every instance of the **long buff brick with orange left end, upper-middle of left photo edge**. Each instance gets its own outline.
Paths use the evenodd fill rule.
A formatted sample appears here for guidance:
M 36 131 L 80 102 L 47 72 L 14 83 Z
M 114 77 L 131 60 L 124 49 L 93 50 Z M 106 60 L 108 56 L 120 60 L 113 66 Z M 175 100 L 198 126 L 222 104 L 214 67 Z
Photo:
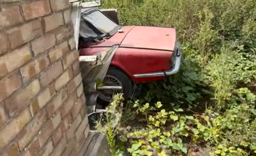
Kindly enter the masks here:
M 0 57 L 0 78 L 32 59 L 28 45 Z

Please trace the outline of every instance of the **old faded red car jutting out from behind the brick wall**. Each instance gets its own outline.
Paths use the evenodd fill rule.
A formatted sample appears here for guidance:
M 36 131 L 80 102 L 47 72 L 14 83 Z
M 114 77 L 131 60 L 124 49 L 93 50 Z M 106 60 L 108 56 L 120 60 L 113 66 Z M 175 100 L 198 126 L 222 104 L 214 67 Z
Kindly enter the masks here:
M 112 20 L 113 19 L 113 20 Z M 122 86 L 124 97 L 140 82 L 150 82 L 179 71 L 181 48 L 175 28 L 120 26 L 99 9 L 81 13 L 80 55 L 93 55 L 119 45 L 103 83 Z M 112 91 L 101 91 L 99 98 L 110 101 Z

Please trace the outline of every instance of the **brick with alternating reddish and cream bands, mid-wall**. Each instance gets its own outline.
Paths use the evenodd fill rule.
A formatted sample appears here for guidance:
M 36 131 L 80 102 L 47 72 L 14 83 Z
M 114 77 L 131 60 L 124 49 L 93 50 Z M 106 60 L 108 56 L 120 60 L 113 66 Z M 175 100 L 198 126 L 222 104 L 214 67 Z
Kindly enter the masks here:
M 42 55 L 36 60 L 32 60 L 30 63 L 20 69 L 23 82 L 25 83 L 28 80 L 33 79 L 35 76 L 37 76 L 37 74 L 48 67 L 49 64 L 50 63 L 47 55 Z

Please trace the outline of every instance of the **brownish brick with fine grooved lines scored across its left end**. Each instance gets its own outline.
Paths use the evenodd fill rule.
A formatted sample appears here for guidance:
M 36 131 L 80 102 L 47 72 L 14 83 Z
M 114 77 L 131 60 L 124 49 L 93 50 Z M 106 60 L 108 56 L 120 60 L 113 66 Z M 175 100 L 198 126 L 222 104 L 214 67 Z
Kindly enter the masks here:
M 54 63 L 51 68 L 47 71 L 43 72 L 40 75 L 40 83 L 42 86 L 47 86 L 50 82 L 52 82 L 55 78 L 57 78 L 62 73 L 62 64 L 61 61 Z

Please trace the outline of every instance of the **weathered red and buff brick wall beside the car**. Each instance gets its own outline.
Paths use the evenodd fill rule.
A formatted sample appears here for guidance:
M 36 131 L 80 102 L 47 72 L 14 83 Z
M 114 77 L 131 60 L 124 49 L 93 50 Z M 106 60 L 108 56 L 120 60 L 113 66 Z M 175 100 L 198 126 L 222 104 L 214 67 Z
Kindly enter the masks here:
M 75 156 L 89 126 L 69 0 L 0 0 L 0 155 Z

